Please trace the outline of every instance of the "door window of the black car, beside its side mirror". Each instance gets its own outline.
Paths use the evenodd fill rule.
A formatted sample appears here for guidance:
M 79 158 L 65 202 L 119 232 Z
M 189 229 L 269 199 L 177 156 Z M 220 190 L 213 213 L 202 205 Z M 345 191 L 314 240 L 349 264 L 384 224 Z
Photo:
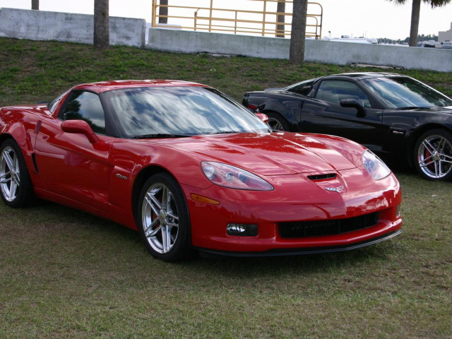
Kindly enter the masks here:
M 343 99 L 355 99 L 364 107 L 370 108 L 369 97 L 355 83 L 350 81 L 322 81 L 317 90 L 316 99 L 338 104 Z

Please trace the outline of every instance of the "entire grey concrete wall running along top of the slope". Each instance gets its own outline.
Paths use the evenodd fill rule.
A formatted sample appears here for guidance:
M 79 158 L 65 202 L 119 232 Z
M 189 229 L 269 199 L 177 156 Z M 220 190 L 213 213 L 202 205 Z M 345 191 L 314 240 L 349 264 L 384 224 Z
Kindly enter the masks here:
M 1 8 L 0 37 L 93 44 L 93 16 Z M 209 32 L 150 28 L 145 20 L 110 17 L 110 44 L 169 52 L 217 53 L 289 59 L 290 40 Z M 324 64 L 371 64 L 404 69 L 452 72 L 452 50 L 306 40 L 306 61 Z

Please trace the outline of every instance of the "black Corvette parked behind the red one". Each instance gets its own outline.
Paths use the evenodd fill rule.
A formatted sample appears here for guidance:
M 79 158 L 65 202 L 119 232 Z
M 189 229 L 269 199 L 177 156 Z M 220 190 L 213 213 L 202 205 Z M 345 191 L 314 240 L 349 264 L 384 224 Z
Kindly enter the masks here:
M 275 130 L 343 136 L 426 179 L 452 179 L 452 100 L 408 76 L 323 76 L 246 93 L 243 105 Z

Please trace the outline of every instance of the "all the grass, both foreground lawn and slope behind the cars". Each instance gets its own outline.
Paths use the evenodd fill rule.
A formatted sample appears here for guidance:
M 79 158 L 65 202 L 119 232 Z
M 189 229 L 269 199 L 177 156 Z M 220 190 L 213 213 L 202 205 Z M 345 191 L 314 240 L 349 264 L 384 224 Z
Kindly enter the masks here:
M 0 106 L 118 78 L 198 81 L 241 100 L 356 71 L 9 39 L 0 39 L 0 66 Z M 449 73 L 398 72 L 452 94 Z M 396 175 L 400 237 L 290 258 L 162 263 L 107 220 L 53 203 L 0 204 L 0 338 L 452 338 L 452 184 Z

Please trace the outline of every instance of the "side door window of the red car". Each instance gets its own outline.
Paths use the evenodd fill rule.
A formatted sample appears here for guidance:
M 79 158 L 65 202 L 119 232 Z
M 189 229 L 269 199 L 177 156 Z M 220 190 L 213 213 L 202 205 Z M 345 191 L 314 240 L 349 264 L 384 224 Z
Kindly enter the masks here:
M 104 109 L 95 93 L 74 90 L 62 112 L 59 112 L 59 119 L 84 120 L 95 133 L 105 134 Z

